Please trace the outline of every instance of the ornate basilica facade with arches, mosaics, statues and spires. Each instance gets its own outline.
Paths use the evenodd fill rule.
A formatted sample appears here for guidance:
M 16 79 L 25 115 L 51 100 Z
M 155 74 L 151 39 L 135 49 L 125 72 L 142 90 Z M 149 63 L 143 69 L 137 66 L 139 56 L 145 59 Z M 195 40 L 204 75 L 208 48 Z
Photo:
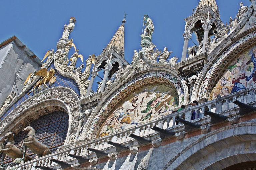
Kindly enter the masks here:
M 88 58 L 71 39 L 74 17 L 42 64 L 17 37 L 1 43 L 0 54 L 14 46 L 31 63 L 24 84 L 2 88 L 1 170 L 255 169 L 256 1 L 240 6 L 223 24 L 215 0 L 200 0 L 185 19 L 181 62 L 155 48 L 148 15 L 131 63 L 125 19 Z

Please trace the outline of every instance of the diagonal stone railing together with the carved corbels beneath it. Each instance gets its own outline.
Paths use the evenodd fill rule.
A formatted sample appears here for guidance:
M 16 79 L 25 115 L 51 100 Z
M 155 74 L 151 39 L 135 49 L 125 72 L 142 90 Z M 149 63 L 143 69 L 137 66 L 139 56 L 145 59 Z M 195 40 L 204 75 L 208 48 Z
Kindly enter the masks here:
M 159 119 L 146 122 L 144 124 L 139 124 L 133 128 L 125 129 L 123 131 L 119 131 L 107 136 L 93 139 L 91 141 L 87 141 L 83 139 L 80 141 L 69 143 L 65 146 L 60 147 L 61 150 L 57 150 L 57 152 L 55 153 L 31 160 L 24 164 L 9 167 L 7 169 L 8 170 L 34 170 L 35 169 L 34 166 L 36 165 L 48 166 L 55 169 L 60 168 L 58 164 L 51 162 L 52 158 L 65 161 L 68 163 L 72 163 L 72 164 L 77 163 L 76 159 L 68 156 L 69 153 L 84 156 L 86 158 L 89 158 L 90 160 L 93 160 L 94 158 L 96 158 L 96 154 L 94 152 L 88 151 L 87 148 L 94 148 L 94 149 L 99 149 L 99 150 L 108 152 L 109 158 L 113 159 L 113 155 L 115 155 L 117 152 L 114 146 L 107 143 L 109 140 L 112 142 L 116 142 L 120 144 L 122 143 L 126 146 L 129 146 L 130 147 L 129 150 L 134 154 L 134 153 L 137 153 L 138 150 L 136 148 L 139 147 L 139 145 L 135 139 L 129 137 L 129 134 L 131 133 L 151 139 L 152 145 L 154 147 L 158 147 L 161 144 L 160 135 L 158 134 L 158 132 L 155 132 L 154 130 L 152 130 L 151 127 L 157 126 L 159 128 L 174 131 L 175 135 L 172 137 L 178 137 L 178 139 L 182 139 L 184 135 L 190 132 L 184 131 L 184 126 L 179 125 L 179 123 L 175 121 L 175 118 L 177 117 L 182 118 L 185 116 L 185 120 L 190 121 L 193 111 L 196 112 L 196 117 L 197 117 L 197 114 L 199 113 L 202 114 L 202 117 L 199 119 L 195 119 L 192 122 L 201 125 L 201 130 L 204 133 L 207 133 L 209 132 L 209 129 L 213 125 L 210 123 L 209 116 L 203 116 L 203 113 L 205 112 L 205 110 L 209 109 L 209 111 L 227 116 L 228 121 L 234 124 L 233 120 L 235 120 L 235 118 L 240 119 L 241 116 L 238 114 L 238 106 L 232 103 L 232 101 L 239 100 L 245 104 L 254 106 L 256 103 L 255 91 L 256 91 L 256 87 L 251 87 L 251 88 L 241 90 L 239 92 L 236 92 L 224 97 L 218 97 L 217 99 L 214 99 L 205 103 L 201 103 L 193 107 L 188 107 L 187 109 L 184 109 L 179 112 L 162 116 Z

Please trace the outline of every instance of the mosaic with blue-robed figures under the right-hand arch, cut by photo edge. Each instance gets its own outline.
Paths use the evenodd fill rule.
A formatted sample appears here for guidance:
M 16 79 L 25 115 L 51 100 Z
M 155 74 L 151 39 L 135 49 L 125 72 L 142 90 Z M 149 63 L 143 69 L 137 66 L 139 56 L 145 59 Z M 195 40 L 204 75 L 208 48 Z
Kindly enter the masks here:
M 212 98 L 225 96 L 248 87 L 255 86 L 256 47 L 250 48 L 239 55 L 226 69 L 212 91 Z

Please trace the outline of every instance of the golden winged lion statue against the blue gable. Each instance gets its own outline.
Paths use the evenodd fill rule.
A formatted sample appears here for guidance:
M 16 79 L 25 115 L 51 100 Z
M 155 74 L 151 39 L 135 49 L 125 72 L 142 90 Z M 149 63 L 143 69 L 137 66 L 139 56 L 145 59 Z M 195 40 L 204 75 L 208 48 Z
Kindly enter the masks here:
M 35 75 L 42 76 L 43 78 L 37 81 L 33 89 L 40 87 L 42 84 L 46 84 L 46 82 L 54 83 L 56 80 L 56 76 L 54 76 L 54 74 L 55 74 L 55 70 L 53 68 L 51 68 L 49 71 L 47 70 L 47 68 L 42 68 L 41 70 L 37 71 Z M 28 93 L 28 95 L 30 94 L 30 92 Z

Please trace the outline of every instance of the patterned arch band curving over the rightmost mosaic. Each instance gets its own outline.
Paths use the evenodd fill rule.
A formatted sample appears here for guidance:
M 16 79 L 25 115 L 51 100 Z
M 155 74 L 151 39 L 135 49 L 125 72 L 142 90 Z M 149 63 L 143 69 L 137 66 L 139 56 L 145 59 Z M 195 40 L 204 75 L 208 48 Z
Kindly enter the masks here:
M 194 96 L 194 100 L 201 99 L 204 97 L 209 100 L 210 93 L 214 88 L 214 85 L 218 82 L 218 80 L 224 74 L 226 70 L 225 69 L 226 66 L 244 49 L 255 44 L 256 42 L 255 36 L 256 36 L 256 31 L 249 33 L 246 36 L 240 38 L 235 43 L 227 47 L 225 51 L 223 51 L 220 55 L 218 55 L 213 63 L 208 62 L 208 64 L 205 65 L 205 67 L 203 68 L 203 70 L 200 72 L 198 76 L 199 79 L 197 79 L 195 83 L 200 86 L 197 86 L 196 88 L 193 89 L 192 96 Z M 211 56 L 211 54 L 209 54 L 209 56 Z

